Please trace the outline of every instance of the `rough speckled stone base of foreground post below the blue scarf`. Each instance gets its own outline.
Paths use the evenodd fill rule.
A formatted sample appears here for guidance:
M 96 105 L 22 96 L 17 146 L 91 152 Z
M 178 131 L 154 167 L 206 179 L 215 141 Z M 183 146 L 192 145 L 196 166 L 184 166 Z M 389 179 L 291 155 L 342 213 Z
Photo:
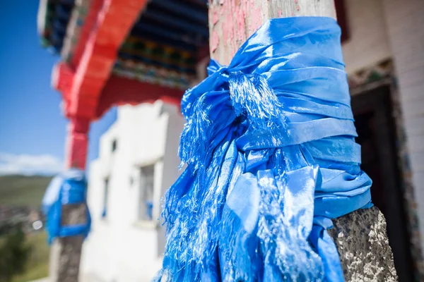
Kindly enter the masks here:
M 396 282 L 386 220 L 377 207 L 333 219 L 334 239 L 346 281 Z

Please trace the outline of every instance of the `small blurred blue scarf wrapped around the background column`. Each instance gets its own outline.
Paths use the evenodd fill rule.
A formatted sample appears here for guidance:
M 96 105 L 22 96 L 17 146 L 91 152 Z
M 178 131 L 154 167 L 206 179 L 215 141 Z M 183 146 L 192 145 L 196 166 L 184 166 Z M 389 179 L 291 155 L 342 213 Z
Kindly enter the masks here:
M 49 243 L 52 243 L 56 237 L 88 235 L 91 219 L 86 196 L 87 182 L 83 171 L 69 169 L 69 171 L 52 179 L 42 199 L 42 212 L 47 219 L 46 229 L 49 235 Z M 64 204 L 85 204 L 86 221 L 75 225 L 61 225 L 62 206 Z

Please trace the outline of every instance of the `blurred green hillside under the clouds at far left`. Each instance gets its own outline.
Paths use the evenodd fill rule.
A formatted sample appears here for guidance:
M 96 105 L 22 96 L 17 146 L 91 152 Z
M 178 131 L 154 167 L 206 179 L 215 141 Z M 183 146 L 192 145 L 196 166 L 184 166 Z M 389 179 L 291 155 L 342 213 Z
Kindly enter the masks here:
M 40 207 L 48 176 L 0 176 L 0 204 Z

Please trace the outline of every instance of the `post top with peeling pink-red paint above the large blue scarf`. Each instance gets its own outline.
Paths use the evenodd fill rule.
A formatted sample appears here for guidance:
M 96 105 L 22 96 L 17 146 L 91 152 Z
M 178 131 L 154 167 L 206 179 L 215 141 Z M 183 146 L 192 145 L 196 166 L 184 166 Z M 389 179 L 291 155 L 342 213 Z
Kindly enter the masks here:
M 210 0 L 211 58 L 228 65 L 240 45 L 266 20 L 291 16 L 336 18 L 334 0 Z

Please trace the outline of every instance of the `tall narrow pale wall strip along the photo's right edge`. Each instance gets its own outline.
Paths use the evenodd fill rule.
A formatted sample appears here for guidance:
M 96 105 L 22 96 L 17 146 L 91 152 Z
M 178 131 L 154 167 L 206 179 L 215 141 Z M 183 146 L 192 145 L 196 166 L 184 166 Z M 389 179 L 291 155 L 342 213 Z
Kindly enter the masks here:
M 424 1 L 385 0 L 424 247 Z

